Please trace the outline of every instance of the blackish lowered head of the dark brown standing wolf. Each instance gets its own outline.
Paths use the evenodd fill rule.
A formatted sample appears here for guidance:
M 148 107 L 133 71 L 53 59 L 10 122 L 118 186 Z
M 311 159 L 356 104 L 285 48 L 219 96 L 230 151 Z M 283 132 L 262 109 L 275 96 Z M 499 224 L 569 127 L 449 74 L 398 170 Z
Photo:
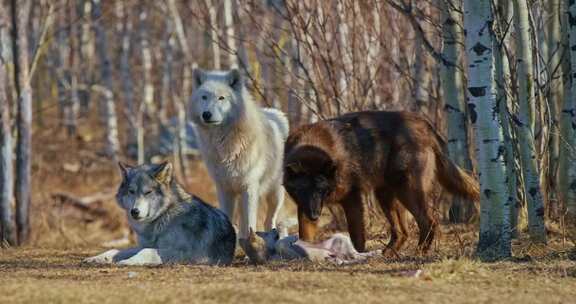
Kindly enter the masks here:
M 317 220 L 324 201 L 335 189 L 335 166 L 329 155 L 314 147 L 287 156 L 284 187 L 306 217 Z

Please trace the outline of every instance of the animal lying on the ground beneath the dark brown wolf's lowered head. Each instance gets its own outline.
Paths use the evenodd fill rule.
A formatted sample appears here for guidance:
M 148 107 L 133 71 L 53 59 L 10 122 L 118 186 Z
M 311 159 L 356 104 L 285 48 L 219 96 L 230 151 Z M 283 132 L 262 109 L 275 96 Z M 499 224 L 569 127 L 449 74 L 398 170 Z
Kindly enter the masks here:
M 268 232 L 250 230 L 247 239 L 240 239 L 246 255 L 254 264 L 264 264 L 274 260 L 306 259 L 311 262 L 331 262 L 337 265 L 353 264 L 377 256 L 381 250 L 360 253 L 356 251 L 350 237 L 341 233 L 313 244 L 290 235 L 280 239 L 276 229 Z

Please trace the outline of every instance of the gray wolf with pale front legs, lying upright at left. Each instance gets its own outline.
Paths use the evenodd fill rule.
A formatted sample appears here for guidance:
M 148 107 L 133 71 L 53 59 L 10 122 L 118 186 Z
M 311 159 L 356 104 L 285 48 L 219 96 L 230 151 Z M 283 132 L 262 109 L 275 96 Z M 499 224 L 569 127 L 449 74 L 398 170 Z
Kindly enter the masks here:
M 131 167 L 120 163 L 122 184 L 116 194 L 138 247 L 109 250 L 85 263 L 156 265 L 232 262 L 236 233 L 228 217 L 186 193 L 174 178 L 172 165 Z

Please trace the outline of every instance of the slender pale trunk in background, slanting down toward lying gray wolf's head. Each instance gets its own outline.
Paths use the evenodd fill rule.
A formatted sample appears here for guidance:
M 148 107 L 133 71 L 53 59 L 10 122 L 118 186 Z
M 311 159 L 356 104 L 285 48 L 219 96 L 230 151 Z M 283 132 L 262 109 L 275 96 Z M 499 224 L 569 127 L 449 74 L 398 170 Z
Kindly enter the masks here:
M 106 32 L 101 25 L 102 4 L 100 0 L 92 0 L 92 22 L 96 36 L 96 52 L 101 65 L 101 94 L 104 97 L 104 124 L 106 126 L 106 154 L 115 161 L 120 152 L 120 141 L 118 140 L 118 119 L 114 104 L 114 93 L 112 85 L 112 66 L 108 58 L 108 40 Z

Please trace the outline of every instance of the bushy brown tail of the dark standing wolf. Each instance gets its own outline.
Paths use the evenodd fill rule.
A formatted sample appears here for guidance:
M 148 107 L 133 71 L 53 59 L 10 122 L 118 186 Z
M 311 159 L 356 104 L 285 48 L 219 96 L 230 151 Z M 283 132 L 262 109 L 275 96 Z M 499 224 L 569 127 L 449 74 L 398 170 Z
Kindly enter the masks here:
M 450 193 L 467 200 L 480 200 L 480 185 L 466 171 L 455 165 L 442 151 L 436 151 L 436 176 Z

